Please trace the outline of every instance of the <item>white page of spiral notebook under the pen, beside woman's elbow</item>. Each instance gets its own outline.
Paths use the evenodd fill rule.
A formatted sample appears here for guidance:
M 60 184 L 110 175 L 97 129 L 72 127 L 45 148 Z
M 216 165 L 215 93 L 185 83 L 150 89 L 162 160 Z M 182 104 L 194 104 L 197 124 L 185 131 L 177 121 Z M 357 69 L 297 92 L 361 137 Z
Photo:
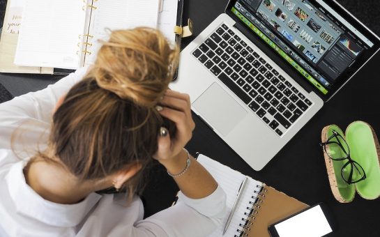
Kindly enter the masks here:
M 216 229 L 213 234 L 210 235 L 210 237 L 220 237 L 223 234 L 225 223 L 227 222 L 227 218 L 231 212 L 232 206 L 234 206 L 234 202 L 238 194 L 238 189 L 240 188 L 241 182 L 245 176 L 234 169 L 220 164 L 220 162 L 206 157 L 205 155 L 199 155 L 197 160 L 208 170 L 208 172 L 210 172 L 210 174 L 215 178 L 215 180 L 227 194 L 226 216 L 222 222 L 222 225 L 218 227 L 218 229 Z M 235 234 L 238 235 L 238 232 L 236 230 L 241 229 L 239 228 L 239 224 L 245 224 L 241 218 L 246 217 L 244 213 L 249 211 L 247 210 L 248 206 L 252 206 L 252 204 L 250 204 L 250 201 L 254 201 L 254 199 L 252 199 L 252 196 L 257 197 L 257 194 L 254 193 L 254 191 L 259 192 L 262 184 L 263 183 L 255 181 L 254 179 L 248 177 L 248 181 L 245 184 L 245 188 L 241 194 L 241 199 L 238 201 L 236 210 L 232 216 L 231 222 L 229 223 L 229 227 L 225 233 L 225 236 L 234 236 Z

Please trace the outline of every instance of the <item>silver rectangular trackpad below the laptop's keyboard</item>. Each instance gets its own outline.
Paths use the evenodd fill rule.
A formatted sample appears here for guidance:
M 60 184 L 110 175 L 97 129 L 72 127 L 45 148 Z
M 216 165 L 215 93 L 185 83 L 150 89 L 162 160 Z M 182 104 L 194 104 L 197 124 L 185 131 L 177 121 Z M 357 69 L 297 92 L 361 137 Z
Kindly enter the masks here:
M 227 136 L 247 114 L 247 111 L 215 82 L 192 103 L 192 106 L 223 136 Z

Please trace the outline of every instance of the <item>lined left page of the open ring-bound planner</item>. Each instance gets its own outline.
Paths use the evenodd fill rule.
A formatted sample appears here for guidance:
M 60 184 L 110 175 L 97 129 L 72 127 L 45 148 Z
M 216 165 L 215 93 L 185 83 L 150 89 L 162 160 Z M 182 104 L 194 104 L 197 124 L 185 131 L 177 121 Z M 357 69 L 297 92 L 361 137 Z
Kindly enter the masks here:
M 78 35 L 84 31 L 83 1 L 27 0 L 15 54 L 19 66 L 75 69 Z

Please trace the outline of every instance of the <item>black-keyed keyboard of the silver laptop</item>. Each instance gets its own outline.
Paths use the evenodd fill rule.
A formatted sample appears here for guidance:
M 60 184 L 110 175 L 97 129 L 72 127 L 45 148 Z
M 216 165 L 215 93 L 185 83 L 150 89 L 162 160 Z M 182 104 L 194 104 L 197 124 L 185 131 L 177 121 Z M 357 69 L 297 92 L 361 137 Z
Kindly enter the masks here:
M 280 136 L 312 105 L 226 24 L 192 55 Z

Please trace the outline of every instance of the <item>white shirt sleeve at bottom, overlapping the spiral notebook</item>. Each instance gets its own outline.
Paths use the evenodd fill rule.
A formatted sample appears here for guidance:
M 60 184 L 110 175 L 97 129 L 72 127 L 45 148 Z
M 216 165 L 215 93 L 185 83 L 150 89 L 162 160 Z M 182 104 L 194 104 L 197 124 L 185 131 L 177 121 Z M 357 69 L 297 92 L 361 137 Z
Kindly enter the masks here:
M 203 199 L 190 199 L 182 192 L 175 206 L 135 223 L 132 236 L 208 236 L 222 224 L 226 194 L 218 188 Z

